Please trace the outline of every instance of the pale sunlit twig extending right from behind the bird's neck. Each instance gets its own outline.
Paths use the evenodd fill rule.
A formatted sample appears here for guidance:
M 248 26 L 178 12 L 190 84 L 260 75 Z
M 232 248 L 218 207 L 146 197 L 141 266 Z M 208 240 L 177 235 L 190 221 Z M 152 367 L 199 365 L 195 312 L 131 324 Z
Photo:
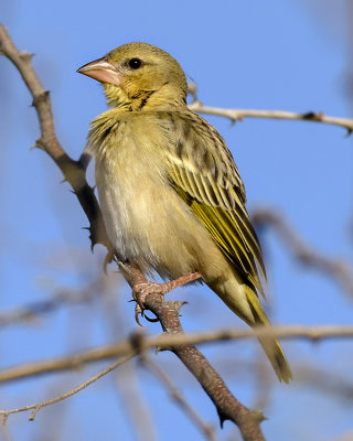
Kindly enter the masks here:
M 325 116 L 322 111 L 309 111 L 306 114 L 298 114 L 295 111 L 285 110 L 225 109 L 221 107 L 204 106 L 200 101 L 191 103 L 189 105 L 189 108 L 199 114 L 225 117 L 231 119 L 232 122 L 243 121 L 245 118 L 287 119 L 292 121 L 311 121 L 339 126 L 345 128 L 349 135 L 351 135 L 351 132 L 353 131 L 353 119 L 329 117 Z

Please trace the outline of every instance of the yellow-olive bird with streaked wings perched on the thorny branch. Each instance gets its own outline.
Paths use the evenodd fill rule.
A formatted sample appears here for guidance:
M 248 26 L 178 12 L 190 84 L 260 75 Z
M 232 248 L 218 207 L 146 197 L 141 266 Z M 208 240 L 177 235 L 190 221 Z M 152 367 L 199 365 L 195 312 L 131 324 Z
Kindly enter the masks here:
M 196 275 L 249 326 L 270 326 L 243 181 L 218 131 L 189 109 L 180 64 L 132 42 L 77 72 L 101 83 L 108 105 L 92 121 L 87 146 L 119 260 L 163 280 Z M 278 340 L 258 338 L 279 380 L 289 383 Z

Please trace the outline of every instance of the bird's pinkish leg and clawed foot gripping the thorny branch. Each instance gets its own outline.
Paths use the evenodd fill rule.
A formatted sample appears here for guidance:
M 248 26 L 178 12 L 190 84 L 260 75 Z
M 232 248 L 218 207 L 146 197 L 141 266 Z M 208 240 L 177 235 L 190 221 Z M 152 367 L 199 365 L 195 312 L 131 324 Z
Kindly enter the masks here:
M 150 281 L 138 282 L 132 287 L 132 298 L 136 301 L 135 306 L 135 320 L 141 326 L 139 315 L 145 316 L 149 322 L 158 322 L 158 319 L 150 319 L 145 314 L 145 301 L 149 294 L 161 294 L 164 295 L 167 292 L 172 291 L 178 287 L 193 282 L 201 279 L 199 272 L 190 272 L 189 275 L 179 277 L 178 279 L 171 280 L 170 282 L 156 283 Z

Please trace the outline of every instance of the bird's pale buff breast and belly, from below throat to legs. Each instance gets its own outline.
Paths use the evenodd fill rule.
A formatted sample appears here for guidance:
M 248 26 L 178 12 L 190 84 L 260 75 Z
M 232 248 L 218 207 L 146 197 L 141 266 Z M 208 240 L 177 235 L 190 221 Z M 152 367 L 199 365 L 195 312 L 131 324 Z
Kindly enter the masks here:
M 156 142 L 146 133 L 118 137 L 119 143 L 96 158 L 96 184 L 119 257 L 164 278 L 194 271 L 194 233 L 205 230 L 169 185 Z

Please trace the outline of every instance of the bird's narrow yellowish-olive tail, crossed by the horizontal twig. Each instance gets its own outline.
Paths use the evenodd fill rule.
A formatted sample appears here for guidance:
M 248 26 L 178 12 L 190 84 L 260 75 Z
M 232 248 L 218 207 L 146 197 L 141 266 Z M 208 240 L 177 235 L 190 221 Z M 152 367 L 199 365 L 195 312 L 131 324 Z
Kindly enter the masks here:
M 247 321 L 248 324 L 253 327 L 270 326 L 270 322 L 263 310 L 263 305 L 257 294 L 247 286 L 245 287 L 245 292 L 255 320 L 253 323 Z M 291 370 L 278 340 L 272 336 L 261 336 L 258 337 L 258 340 L 279 380 L 289 383 L 289 380 L 292 378 Z

